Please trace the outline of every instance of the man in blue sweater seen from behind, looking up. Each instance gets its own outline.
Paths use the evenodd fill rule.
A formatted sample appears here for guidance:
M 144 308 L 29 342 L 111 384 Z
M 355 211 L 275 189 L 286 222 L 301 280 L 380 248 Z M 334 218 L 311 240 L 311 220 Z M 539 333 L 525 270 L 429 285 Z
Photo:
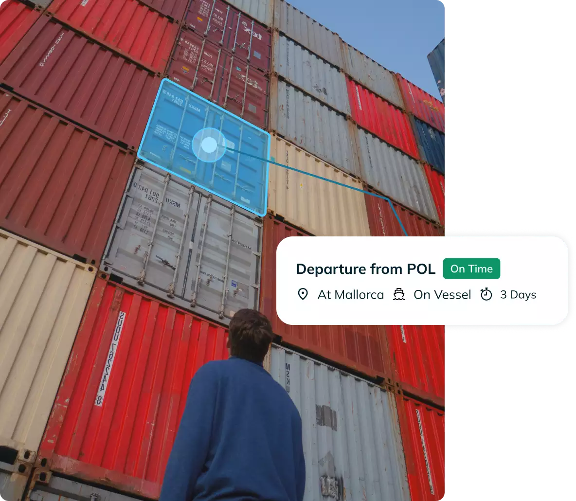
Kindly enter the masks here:
M 240 310 L 228 336 L 230 358 L 192 379 L 160 501 L 302 501 L 300 414 L 262 365 L 270 321 Z

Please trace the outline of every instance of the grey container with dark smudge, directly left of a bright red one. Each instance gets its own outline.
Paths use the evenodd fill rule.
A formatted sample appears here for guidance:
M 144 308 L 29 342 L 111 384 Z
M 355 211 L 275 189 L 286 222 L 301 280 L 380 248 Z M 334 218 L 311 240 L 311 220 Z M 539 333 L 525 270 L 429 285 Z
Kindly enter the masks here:
M 350 115 L 344 74 L 278 32 L 274 33 L 274 71 L 304 92 Z

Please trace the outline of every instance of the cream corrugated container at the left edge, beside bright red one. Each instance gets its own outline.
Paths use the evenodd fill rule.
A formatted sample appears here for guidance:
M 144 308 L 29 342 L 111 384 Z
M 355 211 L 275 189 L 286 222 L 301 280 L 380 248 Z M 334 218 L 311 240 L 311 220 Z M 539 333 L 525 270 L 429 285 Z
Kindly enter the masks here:
M 26 462 L 34 462 L 95 276 L 91 265 L 0 230 L 0 446 Z

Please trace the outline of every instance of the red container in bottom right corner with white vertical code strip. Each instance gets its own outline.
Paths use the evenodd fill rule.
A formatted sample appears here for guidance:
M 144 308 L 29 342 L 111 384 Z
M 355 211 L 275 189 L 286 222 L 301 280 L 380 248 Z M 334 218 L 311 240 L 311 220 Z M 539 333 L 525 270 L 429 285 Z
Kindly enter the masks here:
M 444 411 L 396 396 L 411 501 L 444 498 Z

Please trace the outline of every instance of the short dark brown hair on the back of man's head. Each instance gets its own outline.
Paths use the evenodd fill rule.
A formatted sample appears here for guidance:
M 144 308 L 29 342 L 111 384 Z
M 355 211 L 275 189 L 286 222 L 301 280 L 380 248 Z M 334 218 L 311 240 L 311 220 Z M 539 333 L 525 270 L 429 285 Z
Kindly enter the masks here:
M 262 363 L 274 339 L 272 324 L 256 310 L 238 310 L 230 320 L 230 355 Z

